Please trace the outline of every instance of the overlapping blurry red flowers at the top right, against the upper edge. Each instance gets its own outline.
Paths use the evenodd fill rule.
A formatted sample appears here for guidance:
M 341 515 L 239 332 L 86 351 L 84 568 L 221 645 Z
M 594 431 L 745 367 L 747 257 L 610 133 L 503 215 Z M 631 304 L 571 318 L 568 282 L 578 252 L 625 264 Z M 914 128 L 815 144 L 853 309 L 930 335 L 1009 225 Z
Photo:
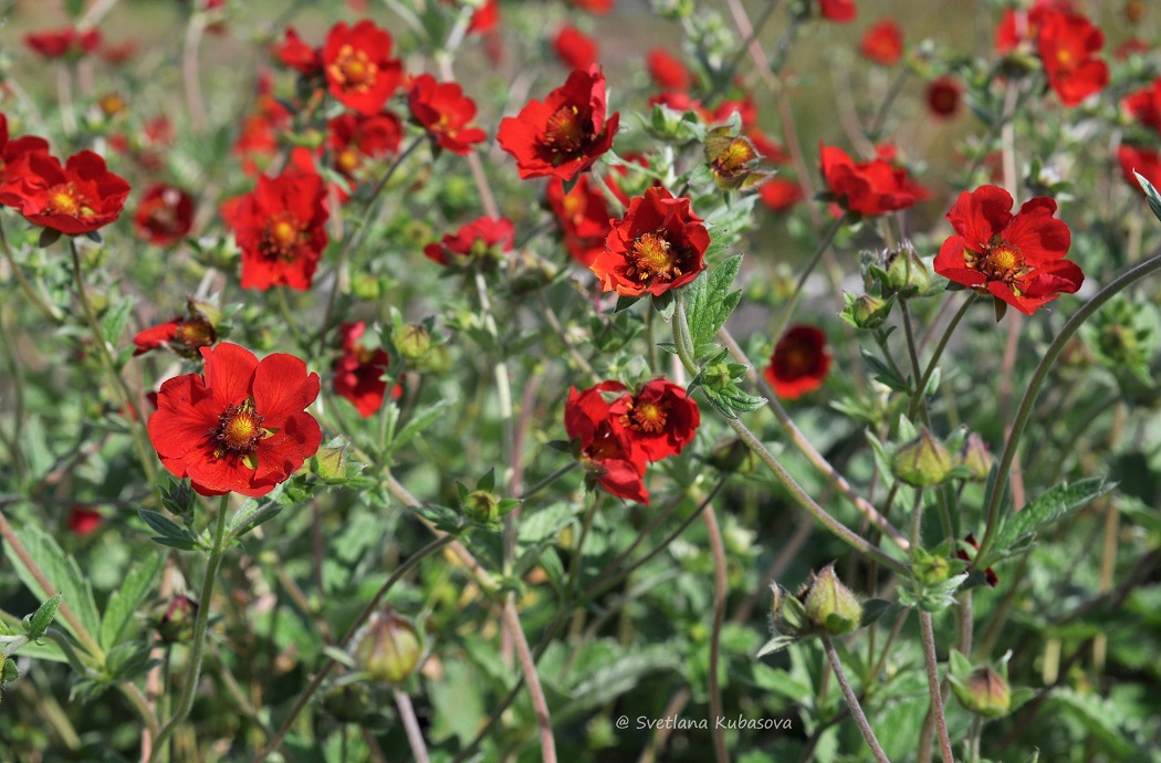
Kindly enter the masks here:
M 1109 65 L 1096 57 L 1104 33 L 1066 0 L 1037 0 L 1029 10 L 1009 8 L 995 42 L 1001 53 L 1031 46 L 1065 106 L 1076 106 L 1109 84 Z

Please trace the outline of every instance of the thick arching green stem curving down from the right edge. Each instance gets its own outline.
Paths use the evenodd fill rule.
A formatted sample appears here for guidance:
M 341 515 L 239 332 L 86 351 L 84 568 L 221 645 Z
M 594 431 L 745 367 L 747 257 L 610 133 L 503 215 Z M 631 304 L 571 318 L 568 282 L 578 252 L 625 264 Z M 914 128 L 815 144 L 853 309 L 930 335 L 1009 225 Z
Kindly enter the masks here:
M 991 550 L 991 545 L 995 542 L 996 533 L 1000 530 L 1000 506 L 1003 499 L 1004 488 L 1008 483 L 1008 474 L 1011 470 L 1012 461 L 1016 458 L 1016 447 L 1019 444 L 1021 436 L 1024 434 L 1024 429 L 1027 426 L 1029 418 L 1032 415 L 1032 406 L 1036 403 L 1036 397 L 1040 393 L 1040 387 L 1047 379 L 1052 366 L 1057 362 L 1057 358 L 1060 357 L 1065 345 L 1067 345 L 1073 334 L 1076 333 L 1076 330 L 1081 327 L 1081 324 L 1084 323 L 1094 312 L 1101 309 L 1105 302 L 1111 300 L 1116 294 L 1120 293 L 1125 288 L 1148 275 L 1152 275 L 1156 271 L 1161 271 L 1161 254 L 1154 254 L 1140 265 L 1128 269 L 1120 278 L 1109 283 L 1109 286 L 1101 289 L 1095 297 L 1086 302 L 1081 309 L 1068 319 L 1068 323 L 1066 323 L 1060 330 L 1057 338 L 1052 340 L 1051 345 L 1048 345 L 1047 352 L 1044 353 L 1044 358 L 1040 359 L 1040 365 L 1038 365 L 1036 370 L 1032 373 L 1032 380 L 1029 382 L 1027 389 L 1024 390 L 1024 397 L 1019 402 L 1019 409 L 1016 411 L 1016 419 L 1012 422 L 1011 433 L 1008 436 L 1008 441 L 1004 442 L 1004 452 L 1000 456 L 1000 466 L 996 470 L 996 478 L 988 483 L 988 494 L 985 502 L 987 505 L 986 513 L 988 517 L 988 524 L 983 531 L 983 540 L 980 541 L 980 550 L 975 555 L 976 566 L 987 566 L 988 552 Z

